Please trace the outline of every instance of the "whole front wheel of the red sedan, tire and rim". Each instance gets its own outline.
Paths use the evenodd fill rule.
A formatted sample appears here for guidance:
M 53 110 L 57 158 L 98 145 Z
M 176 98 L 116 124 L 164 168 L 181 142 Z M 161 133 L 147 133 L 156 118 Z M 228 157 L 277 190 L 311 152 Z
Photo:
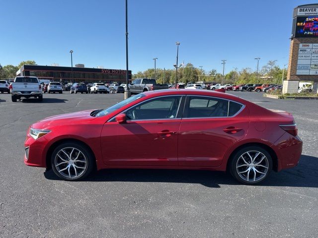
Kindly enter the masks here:
M 94 156 L 86 146 L 66 142 L 55 148 L 51 155 L 53 172 L 64 180 L 76 181 L 88 176 L 95 168 Z

